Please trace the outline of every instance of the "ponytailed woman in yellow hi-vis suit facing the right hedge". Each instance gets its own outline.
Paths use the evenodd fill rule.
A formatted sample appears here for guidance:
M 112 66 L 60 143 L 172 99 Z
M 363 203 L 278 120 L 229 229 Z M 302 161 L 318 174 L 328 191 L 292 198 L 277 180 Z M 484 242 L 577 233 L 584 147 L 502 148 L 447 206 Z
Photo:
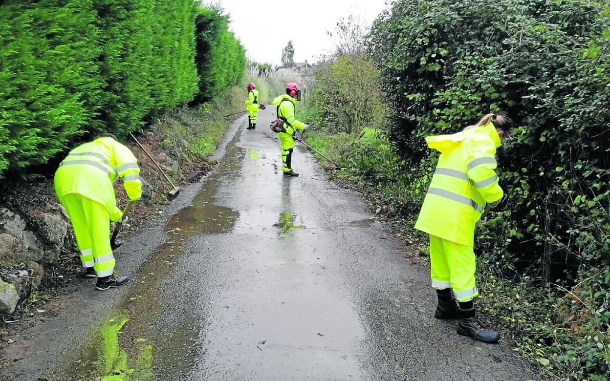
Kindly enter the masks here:
M 458 333 L 486 343 L 500 335 L 475 319 L 475 226 L 503 197 L 495 153 L 508 128 L 506 117 L 488 114 L 457 134 L 426 137 L 440 157 L 415 223 L 430 236 L 432 287 L 439 299 L 434 316 L 459 318 Z

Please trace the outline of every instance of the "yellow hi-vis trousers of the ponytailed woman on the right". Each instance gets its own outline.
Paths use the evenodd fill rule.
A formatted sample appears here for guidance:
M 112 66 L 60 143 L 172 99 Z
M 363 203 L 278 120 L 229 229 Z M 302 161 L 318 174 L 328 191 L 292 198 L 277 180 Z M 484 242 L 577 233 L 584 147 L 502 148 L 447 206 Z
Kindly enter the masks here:
M 475 286 L 476 259 L 472 246 L 464 246 L 430 235 L 432 287 L 451 288 L 459 302 L 479 295 Z

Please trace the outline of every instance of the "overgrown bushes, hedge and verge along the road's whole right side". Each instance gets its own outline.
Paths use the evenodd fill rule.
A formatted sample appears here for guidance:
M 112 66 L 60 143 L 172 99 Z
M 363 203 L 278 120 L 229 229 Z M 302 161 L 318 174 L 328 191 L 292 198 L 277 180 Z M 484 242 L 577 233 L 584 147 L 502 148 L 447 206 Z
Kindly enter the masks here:
M 435 164 L 423 138 L 511 116 L 506 199 L 477 239 L 481 301 L 558 377 L 610 372 L 608 25 L 608 5 L 589 0 L 399 0 L 368 37 L 385 130 L 309 135 L 348 168 L 335 176 L 373 191 L 378 212 L 412 221 Z M 329 115 L 320 104 L 333 85 L 318 80 L 312 118 Z M 336 97 L 339 113 L 353 104 Z

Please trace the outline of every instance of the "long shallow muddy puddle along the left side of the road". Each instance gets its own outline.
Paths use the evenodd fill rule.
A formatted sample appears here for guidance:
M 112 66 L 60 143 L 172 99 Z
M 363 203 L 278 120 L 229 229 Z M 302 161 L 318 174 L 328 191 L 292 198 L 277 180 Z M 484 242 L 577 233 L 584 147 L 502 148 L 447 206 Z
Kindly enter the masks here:
M 194 316 L 179 318 L 177 324 L 160 322 L 171 310 L 161 298 L 162 291 L 173 291 L 163 285 L 174 264 L 184 255 L 187 240 L 199 234 L 228 232 L 235 226 L 239 212 L 214 204 L 223 179 L 239 169 L 244 151 L 235 146 L 239 134 L 229 143 L 224 158 L 206 180 L 193 204 L 171 216 L 165 226 L 168 240 L 140 266 L 137 284 L 126 295 L 117 310 L 99 323 L 87 342 L 66 355 L 62 377 L 68 379 L 155 380 L 159 374 L 184 376 L 194 368 L 201 349 L 198 320 Z M 118 258 L 120 261 L 120 257 Z M 106 291 L 112 292 L 112 291 Z M 181 297 L 170 302 L 180 304 Z M 182 378 L 184 378 L 182 377 Z

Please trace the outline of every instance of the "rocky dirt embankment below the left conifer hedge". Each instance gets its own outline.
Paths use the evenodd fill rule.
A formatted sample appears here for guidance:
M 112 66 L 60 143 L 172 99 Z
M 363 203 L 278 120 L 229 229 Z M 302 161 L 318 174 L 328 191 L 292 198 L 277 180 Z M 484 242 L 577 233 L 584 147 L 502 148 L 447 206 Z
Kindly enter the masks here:
M 206 115 L 201 110 L 178 110 L 137 134 L 137 139 L 176 185 L 194 182 L 216 162 L 193 154 L 193 146 L 201 140 L 218 144 L 218 139 L 210 141 L 209 132 L 222 136 L 229 121 L 219 123 L 218 115 L 235 110 L 235 104 L 226 101 Z M 176 126 L 182 134 L 174 134 Z M 171 190 L 135 141 L 123 143 L 138 158 L 143 197 L 129 213 L 121 235 L 161 222 Z M 126 194 L 120 180 L 115 182 L 115 193 L 117 205 L 123 208 Z M 45 305 L 70 293 L 66 286 L 82 274 L 70 221 L 54 193 L 52 174 L 15 184 L 0 194 L 0 346 L 12 343 L 12 329 L 34 324 L 52 313 L 53 308 Z

